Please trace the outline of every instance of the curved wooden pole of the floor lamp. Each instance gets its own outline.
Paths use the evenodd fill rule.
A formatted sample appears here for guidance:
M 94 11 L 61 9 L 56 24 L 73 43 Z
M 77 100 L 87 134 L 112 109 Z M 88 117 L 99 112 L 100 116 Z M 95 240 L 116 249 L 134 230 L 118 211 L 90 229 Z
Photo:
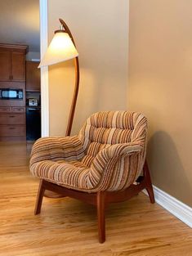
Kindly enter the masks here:
M 65 29 L 65 32 L 69 34 L 69 37 L 71 38 L 72 42 L 74 43 L 74 37 L 71 34 L 68 25 L 66 25 L 64 20 L 62 20 L 62 19 L 59 19 L 59 20 L 60 20 L 60 24 Z M 74 46 L 75 46 L 75 43 L 74 43 Z M 72 124 L 73 124 L 73 121 L 74 121 L 74 110 L 75 110 L 76 103 L 77 103 L 77 98 L 78 98 L 78 88 L 79 88 L 79 81 L 80 81 L 80 71 L 79 71 L 78 57 L 76 57 L 74 59 L 74 67 L 75 67 L 74 96 L 73 96 L 73 100 L 72 100 L 72 103 L 71 103 L 69 119 L 68 119 L 67 129 L 66 129 L 66 133 L 65 133 L 66 136 L 69 136 L 70 132 L 71 132 Z

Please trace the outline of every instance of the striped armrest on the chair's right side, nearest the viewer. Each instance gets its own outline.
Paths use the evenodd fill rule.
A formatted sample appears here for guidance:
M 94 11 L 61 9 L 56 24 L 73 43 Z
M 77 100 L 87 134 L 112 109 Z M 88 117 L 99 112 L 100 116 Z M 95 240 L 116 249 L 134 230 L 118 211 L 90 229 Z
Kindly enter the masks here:
M 130 186 L 141 173 L 144 146 L 138 142 L 108 146 L 92 162 L 92 175 L 98 177 L 96 191 L 118 191 Z

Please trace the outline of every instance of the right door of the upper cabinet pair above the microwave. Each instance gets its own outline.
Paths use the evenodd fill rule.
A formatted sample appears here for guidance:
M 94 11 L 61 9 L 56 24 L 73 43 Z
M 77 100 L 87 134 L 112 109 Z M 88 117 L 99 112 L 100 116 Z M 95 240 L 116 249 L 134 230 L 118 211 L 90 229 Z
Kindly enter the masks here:
M 11 80 L 25 81 L 25 54 L 11 52 Z

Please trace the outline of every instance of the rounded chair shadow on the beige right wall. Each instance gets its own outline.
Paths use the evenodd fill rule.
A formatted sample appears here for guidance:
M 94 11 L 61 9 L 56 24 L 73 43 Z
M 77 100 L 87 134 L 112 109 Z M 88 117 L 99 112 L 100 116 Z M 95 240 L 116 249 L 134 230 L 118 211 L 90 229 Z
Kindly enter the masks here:
M 192 207 L 190 177 L 187 177 L 176 145 L 167 132 L 155 132 L 150 137 L 147 159 L 154 186 Z

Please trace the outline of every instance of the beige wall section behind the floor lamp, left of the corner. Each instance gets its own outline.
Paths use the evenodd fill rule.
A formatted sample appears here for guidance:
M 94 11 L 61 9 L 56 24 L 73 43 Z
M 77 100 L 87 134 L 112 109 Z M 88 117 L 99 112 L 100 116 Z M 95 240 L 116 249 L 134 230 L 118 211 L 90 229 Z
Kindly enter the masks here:
M 66 21 L 77 44 L 81 84 L 72 133 L 99 110 L 127 107 L 127 0 L 49 0 L 51 40 L 58 18 Z M 65 135 L 74 88 L 73 61 L 49 70 L 50 134 Z

